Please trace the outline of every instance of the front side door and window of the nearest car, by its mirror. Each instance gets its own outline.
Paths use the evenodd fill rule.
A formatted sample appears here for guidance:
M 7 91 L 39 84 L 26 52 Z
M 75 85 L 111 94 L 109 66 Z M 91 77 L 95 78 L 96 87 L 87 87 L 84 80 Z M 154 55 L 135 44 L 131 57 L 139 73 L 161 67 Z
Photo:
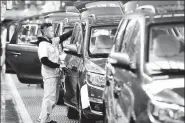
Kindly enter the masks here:
M 125 19 L 127 21 L 126 29 L 122 32 L 121 41 L 116 42 L 116 52 L 125 52 L 128 44 L 132 44 L 132 38 L 135 33 L 136 20 Z M 134 96 L 131 87 L 131 73 L 130 71 L 114 67 L 114 118 L 117 123 L 120 121 L 129 122 L 130 115 L 133 108 Z

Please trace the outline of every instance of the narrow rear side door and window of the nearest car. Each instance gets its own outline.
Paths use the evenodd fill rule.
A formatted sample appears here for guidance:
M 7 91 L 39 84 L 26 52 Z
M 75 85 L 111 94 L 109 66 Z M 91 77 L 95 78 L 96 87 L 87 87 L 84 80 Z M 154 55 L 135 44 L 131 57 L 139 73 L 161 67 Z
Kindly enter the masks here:
M 118 26 L 117 33 L 115 35 L 114 39 L 114 46 L 111 49 L 111 52 L 115 52 L 116 49 L 119 48 L 120 41 L 122 41 L 122 35 L 123 32 L 127 26 L 128 21 L 122 20 Z M 118 45 L 117 45 L 118 44 Z M 114 113 L 115 113 L 115 98 L 114 98 L 114 79 L 113 79 L 113 71 L 115 68 L 111 66 L 109 62 L 107 62 L 105 66 L 106 70 L 106 78 L 107 83 L 105 87 L 105 93 L 104 93 L 104 100 L 105 100 L 105 106 L 106 106 L 106 117 L 108 117 L 108 120 L 111 120 L 110 122 L 114 122 Z

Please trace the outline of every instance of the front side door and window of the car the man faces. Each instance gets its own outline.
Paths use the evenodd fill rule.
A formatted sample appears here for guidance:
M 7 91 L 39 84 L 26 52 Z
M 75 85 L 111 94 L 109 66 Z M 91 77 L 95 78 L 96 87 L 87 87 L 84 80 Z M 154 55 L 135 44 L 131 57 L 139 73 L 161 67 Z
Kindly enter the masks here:
M 73 34 L 71 37 L 70 44 L 82 45 L 83 35 L 82 35 L 82 26 L 81 23 L 76 23 L 73 29 Z M 77 107 L 77 98 L 76 98 L 76 88 L 77 82 L 79 80 L 79 71 L 78 68 L 82 62 L 82 58 L 77 55 L 67 54 L 65 63 L 68 68 L 66 72 L 66 94 L 64 101 L 67 105 L 76 108 Z

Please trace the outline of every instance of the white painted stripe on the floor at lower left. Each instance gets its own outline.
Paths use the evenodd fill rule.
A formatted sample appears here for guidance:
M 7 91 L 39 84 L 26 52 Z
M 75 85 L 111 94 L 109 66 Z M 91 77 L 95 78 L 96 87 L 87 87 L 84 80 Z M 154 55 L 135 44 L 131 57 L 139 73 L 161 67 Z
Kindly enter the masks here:
M 21 115 L 23 123 L 33 123 L 10 74 L 6 74 L 6 81 L 12 89 L 11 92 L 13 94 L 13 98 L 16 102 L 16 106 L 18 108 L 18 112 Z

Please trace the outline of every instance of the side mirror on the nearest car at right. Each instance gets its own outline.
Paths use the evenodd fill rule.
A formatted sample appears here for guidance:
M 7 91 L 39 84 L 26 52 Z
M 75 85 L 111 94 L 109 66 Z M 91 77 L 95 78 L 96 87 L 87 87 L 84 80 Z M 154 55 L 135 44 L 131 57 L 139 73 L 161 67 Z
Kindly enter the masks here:
M 111 52 L 108 58 L 108 62 L 115 67 L 131 70 L 130 58 L 125 53 Z

